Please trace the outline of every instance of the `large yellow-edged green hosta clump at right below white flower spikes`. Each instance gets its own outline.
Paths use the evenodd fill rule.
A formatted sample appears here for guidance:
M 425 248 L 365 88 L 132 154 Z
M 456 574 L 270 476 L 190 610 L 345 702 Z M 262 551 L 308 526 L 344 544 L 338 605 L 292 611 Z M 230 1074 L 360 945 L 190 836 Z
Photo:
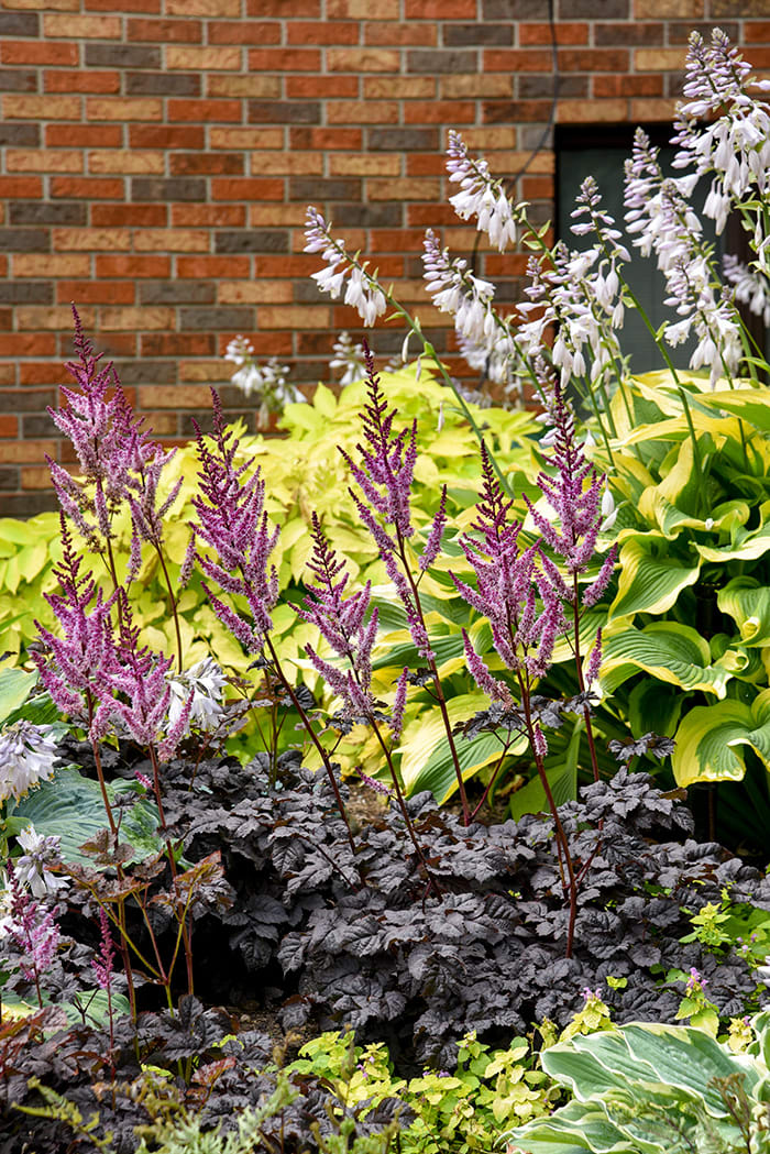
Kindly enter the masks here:
M 675 739 L 688 786 L 741 779 L 752 755 L 770 770 L 770 389 L 679 376 L 705 485 L 667 372 L 630 380 L 629 411 L 613 398 L 623 505 L 601 685 L 635 736 Z

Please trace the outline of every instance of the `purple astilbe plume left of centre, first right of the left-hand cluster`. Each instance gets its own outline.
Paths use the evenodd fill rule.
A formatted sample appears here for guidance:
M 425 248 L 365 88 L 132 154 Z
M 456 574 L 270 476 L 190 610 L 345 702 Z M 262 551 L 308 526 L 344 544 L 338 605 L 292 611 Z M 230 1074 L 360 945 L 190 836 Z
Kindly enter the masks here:
M 217 555 L 212 561 L 197 553 L 205 576 L 226 593 L 246 598 L 251 623 L 217 598 L 203 583 L 214 612 L 227 629 L 252 652 L 260 652 L 272 628 L 271 610 L 278 600 L 278 575 L 268 559 L 278 540 L 264 511 L 264 481 L 256 469 L 242 481 L 249 462 L 236 465 L 239 441 L 226 429 L 219 397 L 211 390 L 214 443 L 211 449 L 196 422 L 199 473 L 202 496 L 193 497 L 197 512 L 195 534 Z

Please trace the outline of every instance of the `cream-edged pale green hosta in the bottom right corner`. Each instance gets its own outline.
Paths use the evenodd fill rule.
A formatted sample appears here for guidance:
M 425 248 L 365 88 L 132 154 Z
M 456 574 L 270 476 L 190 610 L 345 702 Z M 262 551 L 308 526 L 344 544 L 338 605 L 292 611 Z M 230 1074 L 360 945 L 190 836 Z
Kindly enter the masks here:
M 574 1095 L 550 1118 L 502 1137 L 511 1152 L 767 1154 L 770 1032 L 735 1052 L 691 1026 L 633 1022 L 545 1050 L 546 1072 Z

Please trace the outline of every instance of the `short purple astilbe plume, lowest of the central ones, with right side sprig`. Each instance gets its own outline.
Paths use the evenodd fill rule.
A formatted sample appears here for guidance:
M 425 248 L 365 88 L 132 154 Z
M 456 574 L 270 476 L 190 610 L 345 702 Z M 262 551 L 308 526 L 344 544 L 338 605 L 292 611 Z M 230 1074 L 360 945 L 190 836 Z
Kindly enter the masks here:
M 321 658 L 312 645 L 305 646 L 305 652 L 313 667 L 326 679 L 330 688 L 344 703 L 344 717 L 347 720 L 371 719 L 379 703 L 372 694 L 372 647 L 377 634 L 377 610 L 369 609 L 372 583 L 367 582 L 345 597 L 349 576 L 344 561 L 338 561 L 331 548 L 316 514 L 313 514 L 313 556 L 307 568 L 315 578 L 307 583 L 308 597 L 301 608 L 296 612 L 304 620 L 315 625 L 336 657 L 350 665 L 341 672 L 329 661 Z M 396 700 L 391 717 L 391 728 L 399 734 L 404 705 L 406 699 L 405 669 L 396 690 Z

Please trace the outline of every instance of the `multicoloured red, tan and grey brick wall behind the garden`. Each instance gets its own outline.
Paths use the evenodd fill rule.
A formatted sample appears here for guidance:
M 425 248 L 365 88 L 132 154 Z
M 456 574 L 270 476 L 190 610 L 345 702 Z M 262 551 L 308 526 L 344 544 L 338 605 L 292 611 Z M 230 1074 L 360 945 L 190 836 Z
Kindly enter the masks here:
M 770 68 L 768 0 L 553 0 L 559 123 L 666 120 L 687 36 L 718 24 Z M 320 297 L 305 207 L 371 255 L 451 357 L 419 285 L 426 225 L 455 253 L 447 129 L 516 173 L 554 88 L 547 0 L 0 0 L 0 516 L 52 508 L 46 406 L 69 302 L 156 434 L 190 433 L 237 334 L 327 376 L 357 314 Z M 517 193 L 553 210 L 546 147 Z M 479 270 L 516 299 L 524 255 Z M 377 352 L 403 332 L 379 328 Z M 248 412 L 223 390 L 225 406 Z M 249 413 L 249 417 L 252 414 Z

